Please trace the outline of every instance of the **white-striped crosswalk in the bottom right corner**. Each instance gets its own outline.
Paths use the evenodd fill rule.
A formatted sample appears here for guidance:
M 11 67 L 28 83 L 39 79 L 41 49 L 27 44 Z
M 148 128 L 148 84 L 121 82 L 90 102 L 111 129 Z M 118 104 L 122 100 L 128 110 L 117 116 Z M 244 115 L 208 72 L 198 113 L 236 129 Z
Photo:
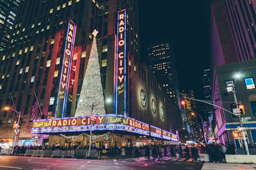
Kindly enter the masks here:
M 201 170 L 256 170 L 256 164 L 205 162 Z

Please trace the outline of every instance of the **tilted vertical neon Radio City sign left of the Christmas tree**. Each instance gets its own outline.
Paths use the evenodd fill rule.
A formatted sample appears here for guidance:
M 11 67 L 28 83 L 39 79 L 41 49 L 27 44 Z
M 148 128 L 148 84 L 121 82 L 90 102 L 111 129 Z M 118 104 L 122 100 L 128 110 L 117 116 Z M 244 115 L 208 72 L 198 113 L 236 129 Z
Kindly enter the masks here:
M 66 102 L 68 100 L 69 76 L 72 62 L 72 52 L 75 40 L 76 25 L 69 20 L 64 49 L 62 70 L 60 76 L 59 92 L 56 102 L 55 118 L 63 118 L 66 111 Z

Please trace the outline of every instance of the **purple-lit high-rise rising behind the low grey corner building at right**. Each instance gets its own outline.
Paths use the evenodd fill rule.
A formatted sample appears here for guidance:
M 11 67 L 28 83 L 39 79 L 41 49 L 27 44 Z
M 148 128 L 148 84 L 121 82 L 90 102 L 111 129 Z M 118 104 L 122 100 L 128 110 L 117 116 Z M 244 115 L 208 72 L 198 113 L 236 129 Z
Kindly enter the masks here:
M 232 65 L 235 66 L 238 62 L 255 59 L 256 2 L 254 0 L 208 0 L 205 2 L 205 7 L 208 7 L 205 11 L 209 11 L 209 13 L 206 12 L 206 18 L 210 18 L 209 37 L 211 47 L 212 101 L 219 108 L 225 108 L 223 102 L 227 101 L 222 101 L 221 96 L 230 95 L 231 92 L 220 91 L 220 87 L 225 82 L 219 82 L 216 68 L 218 66 L 224 67 L 224 65 L 231 67 Z M 235 69 L 238 70 L 238 68 Z M 246 72 L 246 70 L 241 72 Z M 225 78 L 230 81 L 235 79 L 230 76 Z M 230 112 L 223 111 L 219 108 L 215 107 L 215 119 L 213 118 L 215 120 L 213 122 L 213 127 L 215 128 L 214 135 L 216 142 L 224 143 L 233 140 L 231 130 L 234 129 L 227 131 L 220 129 L 220 127 L 225 128 L 223 124 L 229 121 Z M 233 123 L 235 121 L 236 119 L 232 119 L 230 122 Z

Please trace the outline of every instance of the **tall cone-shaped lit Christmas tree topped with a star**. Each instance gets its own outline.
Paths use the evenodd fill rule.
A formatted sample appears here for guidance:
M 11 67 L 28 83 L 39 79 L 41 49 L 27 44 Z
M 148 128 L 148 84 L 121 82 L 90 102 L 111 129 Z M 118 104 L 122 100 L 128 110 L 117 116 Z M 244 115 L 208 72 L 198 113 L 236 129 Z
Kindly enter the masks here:
M 94 115 L 106 114 L 96 43 L 98 31 L 95 29 L 92 34 L 94 37 L 91 54 L 83 79 L 79 102 L 75 110 L 75 117 L 90 115 L 92 110 Z

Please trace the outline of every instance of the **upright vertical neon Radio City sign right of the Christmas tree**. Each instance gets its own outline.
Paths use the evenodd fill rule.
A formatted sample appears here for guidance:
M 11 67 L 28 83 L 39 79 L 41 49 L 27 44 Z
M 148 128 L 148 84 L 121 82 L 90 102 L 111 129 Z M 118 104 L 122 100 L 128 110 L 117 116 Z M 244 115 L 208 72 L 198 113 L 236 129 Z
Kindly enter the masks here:
M 116 14 L 116 54 L 115 54 L 115 96 L 114 110 L 115 114 L 126 115 L 126 9 L 118 11 Z M 118 110 L 124 111 L 118 113 Z

